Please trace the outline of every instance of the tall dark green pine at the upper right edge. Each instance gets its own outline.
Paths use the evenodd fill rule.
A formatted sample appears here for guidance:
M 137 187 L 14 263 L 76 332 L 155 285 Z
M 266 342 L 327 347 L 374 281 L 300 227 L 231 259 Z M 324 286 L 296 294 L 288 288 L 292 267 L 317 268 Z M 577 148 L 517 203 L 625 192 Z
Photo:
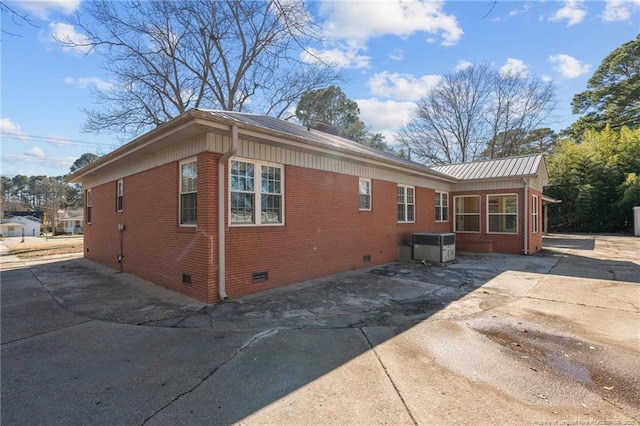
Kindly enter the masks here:
M 606 125 L 614 130 L 640 127 L 640 35 L 604 58 L 571 106 L 574 114 L 584 114 L 571 126 L 574 136 Z

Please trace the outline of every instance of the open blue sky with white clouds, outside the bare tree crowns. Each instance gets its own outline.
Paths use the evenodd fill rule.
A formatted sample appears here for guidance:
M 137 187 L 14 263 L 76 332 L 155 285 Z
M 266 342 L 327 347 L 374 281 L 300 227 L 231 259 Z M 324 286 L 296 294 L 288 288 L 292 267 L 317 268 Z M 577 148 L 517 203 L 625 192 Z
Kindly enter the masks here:
M 113 84 L 96 54 L 63 48 L 58 36 L 82 37 L 65 16 L 81 0 L 5 1 L 35 26 L 2 13 L 1 173 L 68 173 L 85 152 L 105 154 L 123 140 L 83 133 L 91 90 Z M 414 102 L 440 76 L 468 63 L 490 63 L 553 81 L 556 130 L 570 125 L 573 95 L 615 48 L 640 32 L 633 1 L 355 1 L 313 4 L 327 33 L 316 53 L 342 65 L 362 120 L 393 143 Z

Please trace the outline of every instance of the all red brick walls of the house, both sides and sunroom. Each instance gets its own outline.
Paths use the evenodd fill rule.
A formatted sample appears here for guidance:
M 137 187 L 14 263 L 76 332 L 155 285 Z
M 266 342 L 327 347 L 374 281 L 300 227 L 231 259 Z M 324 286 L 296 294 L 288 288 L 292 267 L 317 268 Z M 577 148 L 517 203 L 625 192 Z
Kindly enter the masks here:
M 93 188 L 93 222 L 85 227 L 85 256 L 206 302 L 218 300 L 219 158 L 213 153 L 198 155 L 197 228 L 178 226 L 178 162 L 126 177 L 122 213 L 116 212 L 115 181 Z M 228 194 L 228 182 L 225 185 Z M 399 244 L 409 243 L 412 233 L 453 230 L 453 197 L 460 193 L 449 194 L 449 221 L 436 223 L 435 190 L 416 187 L 416 222 L 405 224 L 397 223 L 397 185 L 372 179 L 371 189 L 372 210 L 360 211 L 357 176 L 285 166 L 284 226 L 229 227 L 225 218 L 229 297 L 392 262 Z M 487 192 L 465 194 L 475 193 L 482 195 L 482 233 L 458 233 L 459 247 L 484 241 L 496 252 L 522 253 L 521 235 L 486 233 Z M 491 193 L 518 193 L 519 212 L 523 211 L 522 189 Z M 227 195 L 225 205 L 228 216 Z M 126 226 L 122 234 L 118 223 Z M 520 215 L 521 229 L 523 223 Z M 532 250 L 541 247 L 539 235 L 530 241 Z M 116 262 L 120 236 L 122 265 Z M 363 261 L 364 256 L 370 261 Z M 268 272 L 268 280 L 254 283 L 256 272 Z M 190 285 L 183 284 L 183 274 L 191 276 Z

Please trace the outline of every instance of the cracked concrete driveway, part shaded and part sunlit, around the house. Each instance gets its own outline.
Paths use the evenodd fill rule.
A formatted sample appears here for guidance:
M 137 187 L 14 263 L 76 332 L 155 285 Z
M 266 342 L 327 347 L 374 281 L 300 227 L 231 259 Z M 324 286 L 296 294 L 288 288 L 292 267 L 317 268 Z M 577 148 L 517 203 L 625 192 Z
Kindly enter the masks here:
M 214 305 L 74 256 L 23 262 L 5 249 L 1 420 L 640 422 L 640 240 L 545 245 Z

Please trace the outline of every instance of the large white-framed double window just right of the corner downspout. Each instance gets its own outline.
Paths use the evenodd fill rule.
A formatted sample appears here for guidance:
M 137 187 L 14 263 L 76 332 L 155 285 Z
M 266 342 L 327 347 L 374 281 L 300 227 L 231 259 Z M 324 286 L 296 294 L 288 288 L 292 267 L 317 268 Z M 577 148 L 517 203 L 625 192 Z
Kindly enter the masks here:
M 231 160 L 231 225 L 284 224 L 284 167 L 254 160 Z

